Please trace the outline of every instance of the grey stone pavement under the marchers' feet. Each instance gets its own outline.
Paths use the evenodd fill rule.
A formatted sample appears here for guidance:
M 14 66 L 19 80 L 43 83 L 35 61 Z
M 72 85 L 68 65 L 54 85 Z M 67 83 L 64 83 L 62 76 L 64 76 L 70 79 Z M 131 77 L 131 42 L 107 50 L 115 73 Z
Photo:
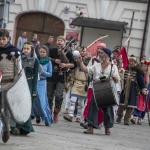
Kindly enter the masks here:
M 11 135 L 6 144 L 0 139 L 0 150 L 150 150 L 147 120 L 141 126 L 115 123 L 111 136 L 105 135 L 103 127 L 94 130 L 93 135 L 86 135 L 75 119 L 73 122 L 65 121 L 62 112 L 59 122 L 50 127 L 44 123 L 37 125 L 33 120 L 34 133 L 27 136 Z

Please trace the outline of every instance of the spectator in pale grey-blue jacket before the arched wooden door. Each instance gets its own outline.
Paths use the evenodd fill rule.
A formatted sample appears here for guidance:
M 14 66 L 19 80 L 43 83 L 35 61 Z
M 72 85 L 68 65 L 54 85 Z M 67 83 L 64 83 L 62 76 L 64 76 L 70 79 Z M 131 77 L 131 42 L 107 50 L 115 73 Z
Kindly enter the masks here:
M 22 50 L 23 44 L 24 44 L 25 42 L 27 42 L 26 36 L 27 36 L 27 32 L 23 31 L 23 32 L 22 32 L 22 36 L 20 36 L 20 37 L 18 38 L 17 48 L 18 48 L 20 51 Z

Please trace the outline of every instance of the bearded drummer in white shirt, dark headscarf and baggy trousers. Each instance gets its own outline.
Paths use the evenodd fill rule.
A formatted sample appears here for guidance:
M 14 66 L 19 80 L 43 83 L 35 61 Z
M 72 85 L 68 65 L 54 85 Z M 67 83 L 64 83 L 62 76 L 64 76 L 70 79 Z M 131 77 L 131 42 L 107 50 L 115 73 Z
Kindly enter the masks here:
M 118 74 L 117 67 L 115 65 L 111 65 L 111 50 L 108 48 L 102 48 L 99 51 L 99 56 L 102 63 L 97 63 L 91 67 L 86 67 L 82 62 L 82 57 L 79 55 L 78 62 L 80 63 L 81 69 L 89 75 L 91 74 L 95 75 L 96 80 L 99 80 L 99 78 L 103 76 L 109 78 L 110 74 L 112 74 L 114 81 L 117 83 L 118 80 L 120 80 L 120 77 Z M 87 122 L 89 128 L 87 131 L 84 131 L 85 134 L 93 134 L 93 128 L 98 128 L 97 115 L 98 115 L 98 108 L 96 106 L 93 95 L 87 114 Z M 105 134 L 110 135 L 111 133 L 109 128 L 112 128 L 114 124 L 114 112 L 112 106 L 103 108 L 103 122 L 105 126 Z

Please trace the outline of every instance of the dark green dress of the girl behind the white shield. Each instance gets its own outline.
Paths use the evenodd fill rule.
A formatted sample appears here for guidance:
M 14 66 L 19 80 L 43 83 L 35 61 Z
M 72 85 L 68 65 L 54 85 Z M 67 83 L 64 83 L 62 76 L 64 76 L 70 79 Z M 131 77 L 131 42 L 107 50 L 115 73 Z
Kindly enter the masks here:
M 26 67 L 24 69 L 25 69 L 26 78 L 33 78 L 33 79 L 27 80 L 29 89 L 31 92 L 31 96 L 33 94 L 37 94 L 37 81 L 38 81 L 38 70 L 39 70 L 38 59 L 35 59 L 34 68 Z M 34 99 L 35 97 L 31 98 L 32 104 L 33 104 Z M 27 122 L 23 124 L 17 124 L 17 126 L 20 127 L 20 134 L 26 135 L 30 132 L 34 132 L 32 122 L 31 122 L 31 117 L 29 118 Z

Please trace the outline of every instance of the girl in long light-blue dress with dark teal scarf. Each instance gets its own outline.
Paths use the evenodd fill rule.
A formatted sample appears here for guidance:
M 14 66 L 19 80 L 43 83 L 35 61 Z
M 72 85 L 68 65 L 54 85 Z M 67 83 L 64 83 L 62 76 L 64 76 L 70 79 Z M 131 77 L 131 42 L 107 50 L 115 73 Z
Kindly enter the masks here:
M 36 123 L 39 124 L 42 119 L 42 121 L 45 122 L 45 125 L 49 126 L 51 123 L 54 122 L 54 120 L 49 109 L 47 98 L 46 78 L 52 76 L 52 64 L 47 55 L 48 55 L 48 48 L 47 46 L 43 45 L 39 50 L 39 55 L 37 56 L 40 63 L 39 67 L 40 80 L 38 81 L 37 84 L 38 96 L 33 104 L 32 116 L 36 117 Z

